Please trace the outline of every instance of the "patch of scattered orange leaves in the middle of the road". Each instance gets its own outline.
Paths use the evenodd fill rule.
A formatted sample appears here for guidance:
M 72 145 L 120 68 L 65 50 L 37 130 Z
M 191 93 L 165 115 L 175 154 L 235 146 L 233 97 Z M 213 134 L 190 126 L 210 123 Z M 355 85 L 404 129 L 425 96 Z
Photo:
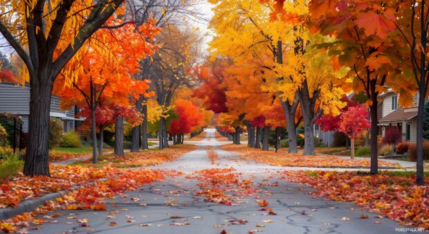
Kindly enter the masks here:
M 233 168 L 212 168 L 194 172 L 196 175 L 187 178 L 200 181 L 201 191 L 196 195 L 206 197 L 205 201 L 235 206 L 233 200 L 254 195 L 257 189 L 251 187 L 253 182 L 250 179 L 242 179 L 241 173 L 234 171 Z M 226 192 L 236 197 L 230 197 Z

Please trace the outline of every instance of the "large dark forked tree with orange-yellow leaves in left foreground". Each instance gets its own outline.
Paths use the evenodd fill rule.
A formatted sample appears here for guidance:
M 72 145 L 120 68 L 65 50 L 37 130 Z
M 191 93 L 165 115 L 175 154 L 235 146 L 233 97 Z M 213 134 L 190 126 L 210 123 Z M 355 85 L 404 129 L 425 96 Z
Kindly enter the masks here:
M 31 87 L 24 174 L 50 175 L 48 137 L 53 83 L 86 39 L 123 1 L 0 1 L 0 33 L 24 61 Z

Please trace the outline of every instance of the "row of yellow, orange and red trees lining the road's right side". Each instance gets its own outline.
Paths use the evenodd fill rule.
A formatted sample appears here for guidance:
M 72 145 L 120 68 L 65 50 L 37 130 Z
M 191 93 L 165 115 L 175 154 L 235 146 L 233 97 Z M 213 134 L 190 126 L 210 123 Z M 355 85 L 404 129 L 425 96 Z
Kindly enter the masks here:
M 216 36 L 203 65 L 211 74 L 202 80 L 219 89 L 202 98 L 222 113 L 220 125 L 231 132 L 247 125 L 253 138 L 253 127 L 284 126 L 284 121 L 289 152 L 297 152 L 295 128 L 302 116 L 304 154 L 314 154 L 316 120 L 340 114 L 344 93 L 363 93 L 372 120 L 371 173 L 376 174 L 378 96 L 392 88 L 401 94 L 402 105 L 410 105 L 419 91 L 417 183 L 423 183 L 426 1 L 210 2 L 216 6 L 210 22 Z M 219 100 L 226 105 L 218 108 Z

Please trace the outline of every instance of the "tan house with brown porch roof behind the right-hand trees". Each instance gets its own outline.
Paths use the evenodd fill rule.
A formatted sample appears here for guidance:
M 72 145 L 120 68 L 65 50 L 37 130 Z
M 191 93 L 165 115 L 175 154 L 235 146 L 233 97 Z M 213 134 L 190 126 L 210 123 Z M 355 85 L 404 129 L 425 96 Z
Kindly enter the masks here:
M 402 141 L 417 142 L 417 107 L 419 95 L 413 98 L 411 107 L 399 106 L 399 94 L 388 89 L 381 96 L 378 105 L 378 131 L 381 136 L 387 129 L 397 127 L 402 136 Z

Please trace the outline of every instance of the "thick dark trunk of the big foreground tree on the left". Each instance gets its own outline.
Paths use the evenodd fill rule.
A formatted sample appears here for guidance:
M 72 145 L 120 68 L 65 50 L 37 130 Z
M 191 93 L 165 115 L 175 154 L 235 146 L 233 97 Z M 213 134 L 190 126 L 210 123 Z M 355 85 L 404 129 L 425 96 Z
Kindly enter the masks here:
M 31 78 L 30 87 L 28 146 L 24 174 L 26 176 L 45 175 L 49 177 L 49 111 L 52 84 Z

